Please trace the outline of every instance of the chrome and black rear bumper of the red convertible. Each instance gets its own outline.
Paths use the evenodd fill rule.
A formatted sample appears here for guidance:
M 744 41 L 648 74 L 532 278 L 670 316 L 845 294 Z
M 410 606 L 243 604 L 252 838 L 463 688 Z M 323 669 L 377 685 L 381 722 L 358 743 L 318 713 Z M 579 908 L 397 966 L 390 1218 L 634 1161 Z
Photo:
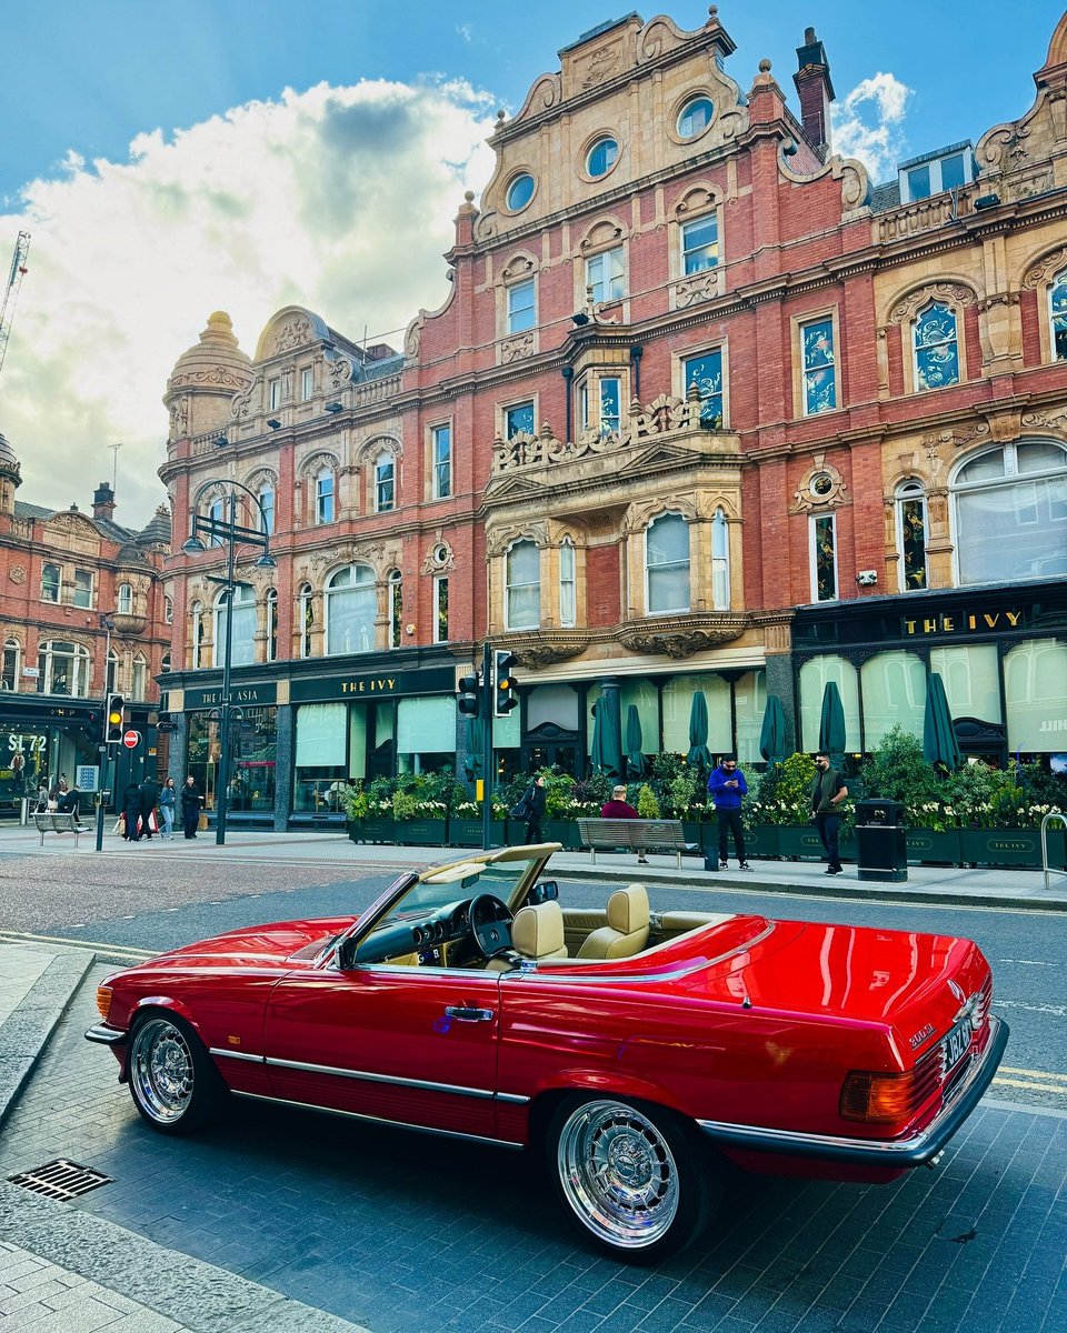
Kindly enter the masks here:
M 922 1166 L 944 1148 L 978 1105 L 992 1082 L 1008 1040 L 1007 1024 L 990 1017 L 990 1037 L 982 1056 L 952 1090 L 951 1098 L 926 1129 L 910 1138 L 848 1138 L 843 1134 L 811 1134 L 791 1129 L 736 1125 L 724 1120 L 698 1120 L 704 1133 L 730 1148 L 780 1152 L 828 1161 Z

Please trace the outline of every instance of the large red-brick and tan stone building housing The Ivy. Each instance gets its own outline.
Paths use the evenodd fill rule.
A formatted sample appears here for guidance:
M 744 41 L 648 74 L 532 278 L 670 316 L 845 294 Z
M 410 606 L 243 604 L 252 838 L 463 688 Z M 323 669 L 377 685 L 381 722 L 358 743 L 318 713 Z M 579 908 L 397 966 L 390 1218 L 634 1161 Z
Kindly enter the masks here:
M 566 47 L 403 355 L 289 308 L 251 359 L 219 313 L 179 360 L 176 528 L 239 483 L 279 561 L 235 601 L 249 818 L 459 764 L 487 639 L 523 664 L 505 768 L 583 770 L 602 697 L 684 752 L 703 693 L 751 762 L 774 694 L 811 748 L 828 681 L 860 753 L 922 728 L 931 670 L 972 753 L 1067 749 L 1067 19 L 1024 117 L 879 187 L 831 152 L 812 29 L 799 117 L 734 59 L 714 9 Z M 208 790 L 221 555 L 167 569 Z

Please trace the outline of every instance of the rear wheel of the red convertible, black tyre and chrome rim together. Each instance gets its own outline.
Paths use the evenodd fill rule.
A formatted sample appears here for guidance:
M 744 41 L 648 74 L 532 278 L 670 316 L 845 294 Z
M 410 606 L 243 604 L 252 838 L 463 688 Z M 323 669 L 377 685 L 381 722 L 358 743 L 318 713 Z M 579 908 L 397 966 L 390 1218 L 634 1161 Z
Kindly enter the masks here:
M 548 1165 L 572 1221 L 616 1258 L 652 1264 L 695 1240 L 719 1201 L 696 1129 L 666 1106 L 622 1097 L 564 1102 Z

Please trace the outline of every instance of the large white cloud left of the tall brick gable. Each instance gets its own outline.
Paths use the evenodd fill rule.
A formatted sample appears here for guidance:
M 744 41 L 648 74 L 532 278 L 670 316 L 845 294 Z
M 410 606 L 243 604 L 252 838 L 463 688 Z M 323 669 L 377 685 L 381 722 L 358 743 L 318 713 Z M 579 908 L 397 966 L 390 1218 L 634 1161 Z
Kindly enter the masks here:
M 287 89 L 169 139 L 137 135 L 128 163 L 69 153 L 57 179 L 27 185 L 23 211 L 0 217 L 4 271 L 17 231 L 32 233 L 0 381 L 19 499 L 88 509 L 123 441 L 115 517 L 147 523 L 167 376 L 212 311 L 252 355 L 289 303 L 353 339 L 439 305 L 452 219 L 492 171 L 493 105 L 455 81 Z

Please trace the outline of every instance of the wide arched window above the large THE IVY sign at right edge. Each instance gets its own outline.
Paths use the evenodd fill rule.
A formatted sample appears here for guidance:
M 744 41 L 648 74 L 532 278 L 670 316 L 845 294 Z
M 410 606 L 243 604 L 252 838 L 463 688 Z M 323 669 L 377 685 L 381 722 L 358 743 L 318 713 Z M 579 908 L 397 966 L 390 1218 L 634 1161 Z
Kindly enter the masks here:
M 964 463 L 952 483 L 959 583 L 1067 575 L 1067 449 L 1019 440 Z

